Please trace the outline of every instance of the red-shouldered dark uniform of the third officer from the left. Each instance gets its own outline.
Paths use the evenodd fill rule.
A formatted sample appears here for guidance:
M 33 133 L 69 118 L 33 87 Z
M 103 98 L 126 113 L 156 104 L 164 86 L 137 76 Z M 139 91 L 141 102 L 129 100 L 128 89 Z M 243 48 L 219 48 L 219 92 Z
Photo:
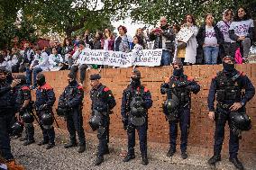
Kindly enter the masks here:
M 47 84 L 44 83 L 44 85 L 39 86 L 36 89 L 36 101 L 35 101 L 35 107 L 36 107 L 36 113 L 40 121 L 40 127 L 42 130 L 43 140 L 39 145 L 48 144 L 49 145 L 55 145 L 55 131 L 53 127 L 50 127 L 50 129 L 45 129 L 41 123 L 41 116 L 44 112 L 52 112 L 52 106 L 55 103 L 55 94 L 53 92 L 53 88 Z

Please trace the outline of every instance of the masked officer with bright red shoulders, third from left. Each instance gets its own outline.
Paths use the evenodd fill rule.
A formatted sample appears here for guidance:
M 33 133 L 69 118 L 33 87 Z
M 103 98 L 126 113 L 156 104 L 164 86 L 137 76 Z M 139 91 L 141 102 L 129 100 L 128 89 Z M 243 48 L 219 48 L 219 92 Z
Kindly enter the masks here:
M 55 131 L 52 126 L 45 127 L 42 123 L 42 118 L 45 117 L 44 115 L 53 115 L 52 106 L 55 103 L 56 98 L 53 88 L 45 82 L 45 76 L 43 74 L 40 73 L 36 76 L 36 83 L 39 86 L 36 89 L 36 101 L 34 104 L 43 135 L 43 140 L 41 140 L 38 145 L 48 144 L 46 149 L 50 149 L 55 146 Z

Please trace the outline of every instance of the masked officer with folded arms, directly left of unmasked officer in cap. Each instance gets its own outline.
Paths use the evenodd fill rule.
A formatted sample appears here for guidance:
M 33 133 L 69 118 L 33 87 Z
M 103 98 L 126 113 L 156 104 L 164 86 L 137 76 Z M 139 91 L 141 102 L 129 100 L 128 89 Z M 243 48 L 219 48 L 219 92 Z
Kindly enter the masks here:
M 65 119 L 69 130 L 70 142 L 64 148 L 77 147 L 76 132 L 78 133 L 79 149 L 78 153 L 86 150 L 85 131 L 83 128 L 82 105 L 84 90 L 78 85 L 76 77 L 69 73 L 69 85 L 65 87 L 64 92 L 59 96 L 59 107 L 66 109 Z

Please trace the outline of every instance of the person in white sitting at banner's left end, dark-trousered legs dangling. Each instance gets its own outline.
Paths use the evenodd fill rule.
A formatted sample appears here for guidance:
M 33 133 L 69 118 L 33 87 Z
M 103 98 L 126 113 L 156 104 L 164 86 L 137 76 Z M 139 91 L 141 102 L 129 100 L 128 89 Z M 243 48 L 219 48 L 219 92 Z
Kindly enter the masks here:
M 80 71 L 80 82 L 79 85 L 83 85 L 85 79 L 86 79 L 86 71 L 90 69 L 90 65 L 87 65 L 85 61 L 82 60 L 83 51 L 85 50 L 91 50 L 89 48 L 86 48 L 85 41 L 79 40 L 78 41 L 78 49 L 73 54 L 72 58 L 75 60 L 73 66 L 70 69 L 70 73 L 77 75 L 78 69 Z

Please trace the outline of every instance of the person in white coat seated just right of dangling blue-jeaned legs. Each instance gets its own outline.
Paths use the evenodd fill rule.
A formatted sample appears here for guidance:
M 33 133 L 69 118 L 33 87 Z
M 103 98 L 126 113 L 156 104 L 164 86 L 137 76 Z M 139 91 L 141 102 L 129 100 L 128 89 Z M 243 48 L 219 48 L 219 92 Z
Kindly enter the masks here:
M 60 54 L 58 54 L 58 51 L 56 48 L 51 49 L 51 54 L 49 56 L 49 64 L 50 64 L 50 70 L 54 69 L 56 67 L 61 67 L 60 69 L 64 69 L 64 60 Z M 60 70 L 59 69 L 59 70 Z

